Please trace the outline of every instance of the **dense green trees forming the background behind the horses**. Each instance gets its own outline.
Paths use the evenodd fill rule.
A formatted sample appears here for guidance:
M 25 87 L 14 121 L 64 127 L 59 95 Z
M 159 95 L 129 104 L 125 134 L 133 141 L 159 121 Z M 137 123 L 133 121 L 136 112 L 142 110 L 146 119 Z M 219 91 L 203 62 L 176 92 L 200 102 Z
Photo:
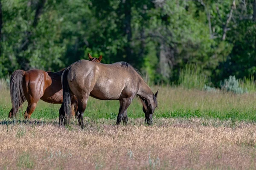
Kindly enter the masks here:
M 88 52 L 107 64 L 126 61 L 154 83 L 179 82 L 188 63 L 215 86 L 230 74 L 256 74 L 254 1 L 236 2 L 228 23 L 231 0 L 1 3 L 0 78 L 17 69 L 58 71 Z

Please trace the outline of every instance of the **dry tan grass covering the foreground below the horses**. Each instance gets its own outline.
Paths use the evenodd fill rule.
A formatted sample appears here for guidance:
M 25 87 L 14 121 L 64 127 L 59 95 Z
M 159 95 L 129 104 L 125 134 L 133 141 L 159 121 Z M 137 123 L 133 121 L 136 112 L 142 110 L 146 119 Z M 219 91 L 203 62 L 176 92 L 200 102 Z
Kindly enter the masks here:
M 255 169 L 256 124 L 204 119 L 0 124 L 0 169 Z

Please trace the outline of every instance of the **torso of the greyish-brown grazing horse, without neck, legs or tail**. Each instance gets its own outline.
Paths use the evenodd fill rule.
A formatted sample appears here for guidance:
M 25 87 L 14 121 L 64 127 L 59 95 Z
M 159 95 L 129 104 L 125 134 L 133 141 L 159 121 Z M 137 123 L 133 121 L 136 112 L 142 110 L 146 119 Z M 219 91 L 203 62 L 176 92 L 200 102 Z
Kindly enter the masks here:
M 68 80 L 73 93 L 87 91 L 90 96 L 102 99 L 120 99 L 135 96 L 138 91 L 138 74 L 124 62 L 100 64 L 79 60 L 70 65 Z

